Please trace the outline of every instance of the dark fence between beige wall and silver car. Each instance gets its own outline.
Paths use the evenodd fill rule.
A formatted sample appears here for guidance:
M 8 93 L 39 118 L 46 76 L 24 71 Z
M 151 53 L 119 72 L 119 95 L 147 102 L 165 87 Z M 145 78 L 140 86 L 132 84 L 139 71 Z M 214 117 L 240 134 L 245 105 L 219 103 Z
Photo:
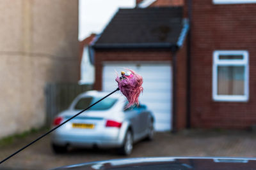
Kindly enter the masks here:
M 88 90 L 92 90 L 92 85 L 48 83 L 45 87 L 46 125 L 51 125 L 54 117 L 66 110 L 78 94 Z

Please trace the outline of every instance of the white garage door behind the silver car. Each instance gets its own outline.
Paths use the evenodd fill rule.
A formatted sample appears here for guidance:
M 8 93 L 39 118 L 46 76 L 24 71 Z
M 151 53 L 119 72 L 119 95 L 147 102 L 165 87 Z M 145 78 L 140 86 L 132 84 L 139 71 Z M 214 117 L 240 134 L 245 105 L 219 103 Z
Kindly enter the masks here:
M 102 90 L 113 91 L 117 87 L 116 73 L 124 67 L 133 69 L 143 77 L 143 94 L 140 96 L 141 104 L 146 104 L 154 113 L 156 131 L 172 130 L 172 69 L 170 63 L 120 63 L 106 62 L 103 66 Z

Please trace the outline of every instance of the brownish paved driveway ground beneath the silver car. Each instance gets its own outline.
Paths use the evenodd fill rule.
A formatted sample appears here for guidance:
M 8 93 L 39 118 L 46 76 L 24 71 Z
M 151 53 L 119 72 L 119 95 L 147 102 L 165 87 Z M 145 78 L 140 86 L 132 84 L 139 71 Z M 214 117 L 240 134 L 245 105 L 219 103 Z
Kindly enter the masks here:
M 26 145 L 42 132 L 0 147 L 0 159 Z M 0 169 L 51 169 L 69 164 L 96 160 L 120 159 L 113 150 L 72 149 L 55 155 L 49 136 L 0 165 Z M 216 156 L 256 157 L 256 133 L 247 131 L 182 131 L 177 134 L 157 133 L 154 141 L 134 146 L 129 157 Z M 20 168 L 21 167 L 21 168 Z

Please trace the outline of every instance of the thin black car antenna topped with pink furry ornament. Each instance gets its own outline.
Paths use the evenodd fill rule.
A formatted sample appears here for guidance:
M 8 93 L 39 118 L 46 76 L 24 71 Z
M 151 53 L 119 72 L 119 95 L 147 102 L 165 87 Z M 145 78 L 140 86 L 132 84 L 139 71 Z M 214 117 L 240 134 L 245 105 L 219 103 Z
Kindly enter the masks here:
M 107 97 L 109 97 L 111 94 L 115 93 L 118 90 L 120 90 L 122 92 L 122 94 L 124 94 L 124 96 L 127 97 L 127 100 L 129 101 L 129 104 L 127 104 L 127 106 L 125 106 L 125 108 L 129 108 L 134 103 L 138 105 L 139 104 L 138 97 L 140 96 L 140 93 L 143 91 L 143 88 L 141 87 L 141 85 L 143 83 L 143 78 L 139 74 L 132 71 L 131 69 L 126 69 L 126 70 L 127 70 L 126 72 L 124 72 L 124 71 L 121 72 L 122 76 L 116 78 L 116 82 L 118 83 L 118 88 L 116 88 L 116 90 L 109 93 L 107 96 L 102 97 L 101 99 L 99 99 L 99 101 L 91 104 L 90 106 L 88 106 L 88 108 L 80 111 L 79 113 L 77 113 L 73 117 L 68 118 L 68 120 L 66 120 L 65 122 L 62 122 L 60 125 L 54 127 L 50 131 L 46 132 L 45 134 L 43 134 L 39 138 L 35 139 L 34 141 L 29 143 L 28 145 L 24 146 L 23 148 L 20 148 L 19 150 L 17 150 L 17 152 L 14 152 L 14 153 L 12 153 L 12 155 L 10 155 L 10 156 L 6 157 L 5 159 L 1 160 L 0 164 L 2 164 L 4 161 L 10 159 L 11 157 L 16 155 L 20 151 L 24 150 L 25 148 L 28 148 L 28 146 L 32 145 L 36 141 L 44 138 L 44 136 L 46 136 L 47 134 L 49 134 L 52 131 L 61 127 L 61 125 L 66 124 L 72 118 L 75 118 L 78 115 L 80 115 L 81 113 L 83 113 L 84 111 L 92 108 L 92 106 L 94 106 L 95 104 L 99 103 L 100 101 L 106 99 Z

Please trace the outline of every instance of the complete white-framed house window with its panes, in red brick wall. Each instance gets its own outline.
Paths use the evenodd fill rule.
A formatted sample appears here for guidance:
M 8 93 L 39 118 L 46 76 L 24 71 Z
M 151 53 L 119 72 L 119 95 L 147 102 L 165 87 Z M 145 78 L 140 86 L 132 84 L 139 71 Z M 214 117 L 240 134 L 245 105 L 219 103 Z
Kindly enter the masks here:
M 215 51 L 212 68 L 214 101 L 248 101 L 247 51 Z

